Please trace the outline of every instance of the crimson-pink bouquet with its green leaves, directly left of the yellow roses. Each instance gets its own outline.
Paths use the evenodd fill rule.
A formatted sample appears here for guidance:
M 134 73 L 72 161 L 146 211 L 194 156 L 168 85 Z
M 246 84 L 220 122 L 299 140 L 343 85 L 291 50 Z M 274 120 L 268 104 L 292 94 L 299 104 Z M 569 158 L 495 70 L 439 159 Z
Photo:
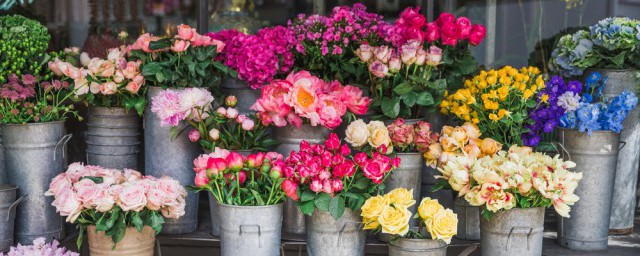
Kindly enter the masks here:
M 317 208 L 337 220 L 346 207 L 356 211 L 366 198 L 384 191 L 382 182 L 400 166 L 400 159 L 387 157 L 386 150 L 383 145 L 371 154 L 352 156 L 335 133 L 324 144 L 303 140 L 300 150 L 284 161 L 282 189 L 304 214 Z

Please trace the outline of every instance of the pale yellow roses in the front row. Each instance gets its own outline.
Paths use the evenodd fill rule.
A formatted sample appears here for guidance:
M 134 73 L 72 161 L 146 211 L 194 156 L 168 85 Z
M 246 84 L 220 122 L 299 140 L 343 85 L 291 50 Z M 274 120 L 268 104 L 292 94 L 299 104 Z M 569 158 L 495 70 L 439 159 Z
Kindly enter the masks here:
M 371 197 L 362 205 L 361 216 L 365 230 L 382 232 L 402 238 L 441 239 L 451 243 L 451 237 L 457 234 L 458 216 L 451 209 L 445 209 L 438 200 L 424 198 L 414 215 L 409 207 L 416 204 L 413 191 L 396 188 L 384 196 Z M 411 218 L 420 219 L 418 230 L 411 230 Z M 428 235 L 423 233 L 426 229 Z

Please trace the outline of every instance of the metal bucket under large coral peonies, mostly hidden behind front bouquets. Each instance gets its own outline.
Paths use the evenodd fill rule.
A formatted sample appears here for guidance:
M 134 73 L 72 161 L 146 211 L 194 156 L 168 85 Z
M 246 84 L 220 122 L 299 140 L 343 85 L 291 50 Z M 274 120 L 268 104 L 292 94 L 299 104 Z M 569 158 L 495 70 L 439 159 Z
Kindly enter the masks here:
M 292 125 L 273 129 L 273 138 L 280 144 L 275 151 L 284 157 L 289 156 L 291 151 L 300 150 L 300 142 L 306 140 L 311 144 L 322 143 L 331 131 L 323 126 L 311 126 L 302 124 L 296 128 Z M 305 216 L 293 200 L 287 199 L 284 205 L 284 218 L 282 232 L 284 236 L 292 240 L 302 240 L 306 233 L 304 224 Z

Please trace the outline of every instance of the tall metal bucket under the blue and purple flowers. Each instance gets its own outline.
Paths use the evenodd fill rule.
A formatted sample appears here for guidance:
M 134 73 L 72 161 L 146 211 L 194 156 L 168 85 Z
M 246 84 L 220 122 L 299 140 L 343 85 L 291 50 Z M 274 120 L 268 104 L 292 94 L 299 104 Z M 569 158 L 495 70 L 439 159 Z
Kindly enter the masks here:
M 572 250 L 607 249 L 611 200 L 618 160 L 620 134 L 559 129 L 563 158 L 576 163 L 583 175 L 575 194 L 580 200 L 571 207 L 571 218 L 558 218 L 558 243 Z

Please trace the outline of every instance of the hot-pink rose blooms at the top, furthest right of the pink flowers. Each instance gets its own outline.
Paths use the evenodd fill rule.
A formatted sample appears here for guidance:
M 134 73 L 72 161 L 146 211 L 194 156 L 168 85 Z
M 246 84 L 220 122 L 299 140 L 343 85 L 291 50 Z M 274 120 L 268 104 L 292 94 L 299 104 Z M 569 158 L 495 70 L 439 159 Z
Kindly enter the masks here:
M 456 18 L 444 12 L 433 22 L 427 22 L 420 14 L 420 7 L 407 8 L 386 34 L 386 40 L 400 47 L 409 40 L 433 43 L 440 41 L 443 45 L 455 46 L 460 41 L 468 41 L 471 45 L 482 42 L 486 29 L 480 24 L 471 24 L 467 17 Z

